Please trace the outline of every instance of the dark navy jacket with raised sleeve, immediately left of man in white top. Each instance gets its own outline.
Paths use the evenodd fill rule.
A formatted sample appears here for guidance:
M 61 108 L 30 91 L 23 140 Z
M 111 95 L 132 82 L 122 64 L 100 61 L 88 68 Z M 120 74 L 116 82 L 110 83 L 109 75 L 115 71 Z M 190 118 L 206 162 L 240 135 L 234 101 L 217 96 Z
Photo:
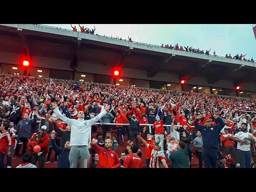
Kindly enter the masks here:
M 58 168 L 69 168 L 70 163 L 69 163 L 69 150 L 65 150 L 60 148 L 59 146 L 56 145 L 55 139 L 51 138 L 52 142 L 52 148 L 55 151 L 55 153 L 58 155 Z

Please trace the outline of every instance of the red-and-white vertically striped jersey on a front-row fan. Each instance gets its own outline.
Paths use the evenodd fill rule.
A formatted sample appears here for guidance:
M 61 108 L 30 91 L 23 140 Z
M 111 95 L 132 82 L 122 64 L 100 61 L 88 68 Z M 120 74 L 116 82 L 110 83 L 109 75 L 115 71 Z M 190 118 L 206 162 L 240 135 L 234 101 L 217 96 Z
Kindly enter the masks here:
M 156 151 L 154 149 L 154 145 L 148 145 L 148 148 L 153 149 L 151 152 L 149 167 L 150 168 L 163 168 L 164 166 L 162 164 L 162 161 L 166 161 L 164 151 L 163 150 Z

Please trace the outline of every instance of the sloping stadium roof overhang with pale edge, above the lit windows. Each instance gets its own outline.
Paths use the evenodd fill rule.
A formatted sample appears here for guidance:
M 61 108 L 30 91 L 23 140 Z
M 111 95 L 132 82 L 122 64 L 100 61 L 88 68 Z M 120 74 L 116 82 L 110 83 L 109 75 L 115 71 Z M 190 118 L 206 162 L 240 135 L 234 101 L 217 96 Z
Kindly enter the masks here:
M 178 74 L 180 79 L 200 76 L 214 83 L 228 79 L 237 83 L 256 80 L 255 64 L 251 62 L 164 49 L 121 41 L 97 35 L 42 27 L 37 25 L 0 25 L 0 51 L 20 53 L 22 47 L 33 55 L 100 63 L 157 73 Z

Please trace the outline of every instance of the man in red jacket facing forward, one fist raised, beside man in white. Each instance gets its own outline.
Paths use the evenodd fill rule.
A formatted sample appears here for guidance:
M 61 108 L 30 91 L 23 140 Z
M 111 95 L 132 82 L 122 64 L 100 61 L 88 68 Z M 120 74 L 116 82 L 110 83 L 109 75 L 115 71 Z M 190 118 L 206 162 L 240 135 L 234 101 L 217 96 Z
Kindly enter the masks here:
M 97 145 L 98 140 L 93 139 L 91 142 L 91 146 L 99 154 L 99 162 L 96 168 L 119 168 L 121 166 L 121 162 L 115 151 L 111 149 L 113 145 L 113 141 L 110 139 L 105 140 L 105 148 L 102 148 Z

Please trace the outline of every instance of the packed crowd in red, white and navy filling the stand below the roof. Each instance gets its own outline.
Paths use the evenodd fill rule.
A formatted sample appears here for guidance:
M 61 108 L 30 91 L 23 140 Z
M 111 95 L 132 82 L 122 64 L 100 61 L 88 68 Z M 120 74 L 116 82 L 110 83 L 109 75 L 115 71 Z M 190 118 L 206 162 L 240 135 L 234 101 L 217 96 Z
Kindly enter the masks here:
M 167 168 L 166 158 L 171 167 L 191 167 L 193 147 L 200 168 L 203 161 L 207 168 L 254 164 L 255 99 L 10 74 L 0 77 L 0 167 L 5 167 L 5 157 L 11 167 L 21 145 L 19 167 L 34 167 L 31 164 L 37 161 L 44 167 L 52 150 L 58 167 L 87 167 L 90 146 L 90 167 L 142 167 L 141 155 L 146 155 L 152 168 Z M 91 130 L 99 127 L 103 132 L 92 139 Z M 125 142 L 126 151 L 116 154 Z M 146 154 L 141 153 L 142 143 Z M 227 156 L 222 157 L 221 150 Z

